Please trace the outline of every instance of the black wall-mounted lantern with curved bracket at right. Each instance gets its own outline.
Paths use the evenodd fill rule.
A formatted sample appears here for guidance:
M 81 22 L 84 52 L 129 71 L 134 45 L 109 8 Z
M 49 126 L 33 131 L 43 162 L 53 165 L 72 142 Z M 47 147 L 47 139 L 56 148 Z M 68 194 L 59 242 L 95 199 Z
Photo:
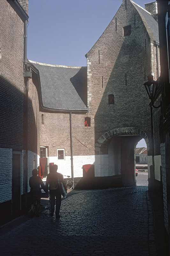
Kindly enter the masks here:
M 146 92 L 148 93 L 149 99 L 151 100 L 150 106 L 153 108 L 159 108 L 159 106 L 154 106 L 154 101 L 156 100 L 157 92 L 159 91 L 159 82 L 153 80 L 153 76 L 148 75 L 148 81 L 144 83 Z

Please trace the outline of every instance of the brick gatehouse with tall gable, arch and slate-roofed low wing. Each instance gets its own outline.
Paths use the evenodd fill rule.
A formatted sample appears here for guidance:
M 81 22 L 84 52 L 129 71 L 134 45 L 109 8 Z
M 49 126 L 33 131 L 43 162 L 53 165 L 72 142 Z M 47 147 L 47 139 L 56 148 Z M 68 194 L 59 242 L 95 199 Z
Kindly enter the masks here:
M 150 107 L 142 86 L 149 73 L 155 79 L 160 74 L 156 2 L 152 5 L 151 14 L 151 4 L 144 10 L 123 1 L 86 54 L 87 70 L 30 60 L 40 74 L 40 146 L 46 166 L 58 164 L 71 176 L 70 112 L 74 177 L 82 177 L 84 164 L 94 164 L 95 177 L 116 176 L 123 185 L 134 185 L 134 147 L 141 138 L 152 165 Z M 156 153 L 160 180 L 160 150 Z

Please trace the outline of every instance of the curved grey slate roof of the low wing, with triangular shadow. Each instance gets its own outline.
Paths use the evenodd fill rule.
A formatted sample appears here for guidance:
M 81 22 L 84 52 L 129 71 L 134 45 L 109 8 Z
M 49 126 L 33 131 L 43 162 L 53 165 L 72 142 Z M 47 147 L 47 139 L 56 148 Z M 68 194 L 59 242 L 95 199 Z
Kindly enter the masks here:
M 54 110 L 87 109 L 87 68 L 29 60 L 39 70 L 42 104 Z

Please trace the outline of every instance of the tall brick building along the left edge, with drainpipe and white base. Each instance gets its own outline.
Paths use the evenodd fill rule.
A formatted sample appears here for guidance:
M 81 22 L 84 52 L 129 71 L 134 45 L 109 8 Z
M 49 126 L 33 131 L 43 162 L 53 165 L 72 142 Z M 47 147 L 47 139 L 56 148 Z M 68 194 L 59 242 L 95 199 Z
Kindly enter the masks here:
M 23 7 L 20 4 L 24 2 Z M 26 93 L 24 50 L 28 21 L 28 0 L 2 0 L 0 6 L 0 209 L 1 222 L 18 216 L 26 191 Z M 5 13 L 5 15 L 4 15 Z M 37 167 L 38 115 L 37 89 L 29 86 L 28 97 L 28 175 Z M 28 190 L 29 191 L 29 190 Z

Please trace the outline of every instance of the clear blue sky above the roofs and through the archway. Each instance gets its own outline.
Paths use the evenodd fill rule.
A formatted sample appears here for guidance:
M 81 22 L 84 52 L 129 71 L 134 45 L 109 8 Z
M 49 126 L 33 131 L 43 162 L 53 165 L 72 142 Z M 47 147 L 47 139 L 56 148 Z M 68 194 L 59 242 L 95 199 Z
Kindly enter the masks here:
M 134 2 L 144 7 L 151 1 Z M 29 0 L 28 59 L 86 66 L 85 54 L 121 4 L 122 0 Z M 137 144 L 144 146 L 144 140 Z

